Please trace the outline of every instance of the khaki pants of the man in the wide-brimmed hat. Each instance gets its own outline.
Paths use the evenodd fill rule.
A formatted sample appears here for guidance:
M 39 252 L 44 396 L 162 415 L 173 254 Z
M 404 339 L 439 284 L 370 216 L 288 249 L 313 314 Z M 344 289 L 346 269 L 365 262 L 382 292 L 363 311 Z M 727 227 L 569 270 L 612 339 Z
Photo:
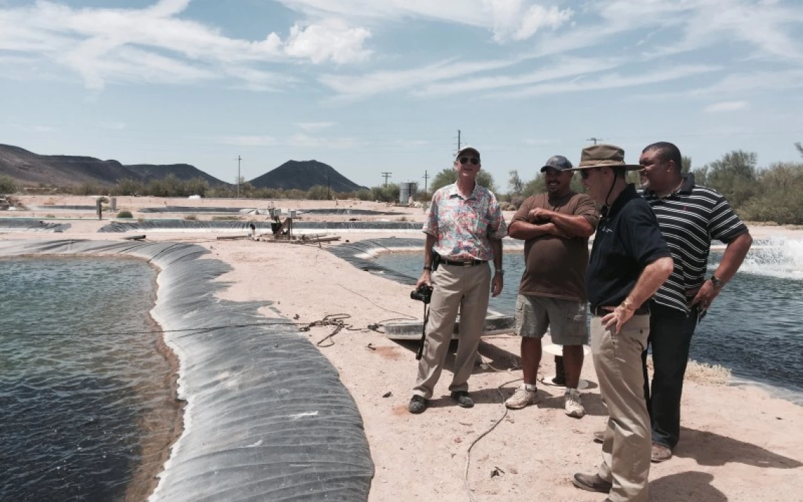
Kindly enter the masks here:
M 612 502 L 646 502 L 650 476 L 650 415 L 644 402 L 642 352 L 650 336 L 650 316 L 633 316 L 614 334 L 591 318 L 591 352 L 605 404 L 608 428 L 599 475 L 613 484 Z

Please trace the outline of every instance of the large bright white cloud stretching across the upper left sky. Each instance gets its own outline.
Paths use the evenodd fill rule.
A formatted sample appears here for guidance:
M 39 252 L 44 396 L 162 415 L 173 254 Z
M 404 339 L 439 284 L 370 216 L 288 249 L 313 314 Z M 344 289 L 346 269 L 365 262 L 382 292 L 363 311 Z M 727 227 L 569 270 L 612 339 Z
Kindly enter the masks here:
M 144 9 L 73 9 L 39 0 L 0 7 L 0 50 L 70 68 L 89 88 L 108 81 L 184 84 L 239 80 L 247 88 L 281 87 L 287 78 L 265 63 L 365 60 L 370 32 L 340 19 L 296 23 L 286 39 L 234 39 L 215 27 L 177 17 L 190 0 L 161 0 Z M 236 69 L 237 71 L 232 71 Z

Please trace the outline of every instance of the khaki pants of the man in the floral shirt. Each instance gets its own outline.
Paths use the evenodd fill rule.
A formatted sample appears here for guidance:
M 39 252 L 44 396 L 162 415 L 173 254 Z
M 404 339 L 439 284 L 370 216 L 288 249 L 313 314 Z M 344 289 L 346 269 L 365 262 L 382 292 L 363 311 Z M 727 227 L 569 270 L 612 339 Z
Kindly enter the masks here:
M 418 378 L 413 394 L 432 398 L 446 361 L 454 321 L 460 310 L 460 333 L 454 357 L 454 377 L 449 390 L 468 390 L 468 378 L 474 368 L 479 337 L 483 333 L 488 296 L 491 292 L 491 267 L 487 263 L 459 267 L 441 263 L 432 274 L 430 320 L 426 324 L 426 346 L 418 361 Z M 639 361 L 641 361 L 639 359 Z

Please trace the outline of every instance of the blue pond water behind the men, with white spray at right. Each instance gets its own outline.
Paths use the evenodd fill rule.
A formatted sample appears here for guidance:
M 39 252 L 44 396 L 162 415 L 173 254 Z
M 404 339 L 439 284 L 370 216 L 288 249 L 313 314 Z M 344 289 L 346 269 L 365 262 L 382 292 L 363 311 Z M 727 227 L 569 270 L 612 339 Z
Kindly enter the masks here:
M 711 269 L 721 252 L 711 252 Z M 736 378 L 803 393 L 803 243 L 756 242 L 744 266 L 715 300 L 691 342 L 691 359 L 732 369 Z M 420 252 L 381 255 L 377 264 L 412 277 Z M 505 286 L 490 308 L 511 314 L 524 256 L 505 253 Z

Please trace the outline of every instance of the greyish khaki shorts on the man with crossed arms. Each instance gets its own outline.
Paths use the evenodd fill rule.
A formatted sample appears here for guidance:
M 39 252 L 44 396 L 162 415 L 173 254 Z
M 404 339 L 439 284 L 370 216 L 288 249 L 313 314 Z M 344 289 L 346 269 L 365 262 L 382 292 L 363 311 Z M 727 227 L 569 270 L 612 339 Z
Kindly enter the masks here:
M 585 301 L 561 300 L 549 296 L 516 297 L 516 334 L 543 338 L 549 329 L 556 345 L 588 345 Z

